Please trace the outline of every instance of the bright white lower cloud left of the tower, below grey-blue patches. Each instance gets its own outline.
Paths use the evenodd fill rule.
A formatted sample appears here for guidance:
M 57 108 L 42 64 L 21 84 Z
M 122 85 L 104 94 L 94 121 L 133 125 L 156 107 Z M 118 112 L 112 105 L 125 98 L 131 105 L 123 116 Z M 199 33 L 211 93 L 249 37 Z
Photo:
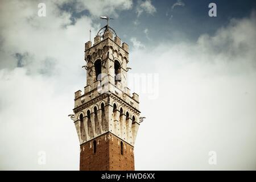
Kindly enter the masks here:
M 73 94 L 56 85 L 74 87 L 59 81 L 27 75 L 24 68 L 0 70 L 0 169 L 78 169 L 79 141 L 67 117 Z M 46 152 L 45 165 L 38 163 L 40 151 Z

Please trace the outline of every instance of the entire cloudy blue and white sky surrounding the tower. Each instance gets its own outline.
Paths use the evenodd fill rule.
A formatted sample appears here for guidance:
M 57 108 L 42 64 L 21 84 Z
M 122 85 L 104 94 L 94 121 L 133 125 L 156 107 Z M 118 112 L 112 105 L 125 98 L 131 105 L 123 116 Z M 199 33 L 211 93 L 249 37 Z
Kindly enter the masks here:
M 86 85 L 89 30 L 93 39 L 109 15 L 129 44 L 129 88 L 146 117 L 135 169 L 255 170 L 255 4 L 0 1 L 0 169 L 79 170 L 68 114 Z

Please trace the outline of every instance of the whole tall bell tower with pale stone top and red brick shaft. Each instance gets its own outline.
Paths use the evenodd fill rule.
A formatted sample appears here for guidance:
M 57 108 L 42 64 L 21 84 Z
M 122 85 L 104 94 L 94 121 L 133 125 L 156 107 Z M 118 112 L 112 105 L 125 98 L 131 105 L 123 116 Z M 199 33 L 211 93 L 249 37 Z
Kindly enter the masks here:
M 134 170 L 140 111 L 138 94 L 127 88 L 128 45 L 107 24 L 94 44 L 85 43 L 85 62 L 86 86 L 75 92 L 72 115 L 80 170 Z

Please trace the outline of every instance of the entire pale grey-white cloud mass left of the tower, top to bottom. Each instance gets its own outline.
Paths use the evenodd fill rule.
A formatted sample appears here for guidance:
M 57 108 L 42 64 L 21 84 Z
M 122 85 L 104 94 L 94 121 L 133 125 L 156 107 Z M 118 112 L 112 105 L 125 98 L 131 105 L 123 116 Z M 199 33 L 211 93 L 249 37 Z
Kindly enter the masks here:
M 56 2 L 46 8 L 39 17 L 34 1 L 1 2 L 0 169 L 79 169 L 79 141 L 67 115 L 73 92 L 84 85 L 85 31 L 96 30 L 87 16 L 71 24 Z M 39 151 L 46 165 L 38 164 Z

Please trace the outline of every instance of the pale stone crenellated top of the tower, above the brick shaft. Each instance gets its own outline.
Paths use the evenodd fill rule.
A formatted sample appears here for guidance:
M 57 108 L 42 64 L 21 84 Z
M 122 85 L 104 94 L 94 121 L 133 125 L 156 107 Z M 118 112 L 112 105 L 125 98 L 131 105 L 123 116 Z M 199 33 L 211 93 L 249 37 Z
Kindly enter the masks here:
M 109 132 L 134 146 L 140 111 L 138 94 L 131 95 L 127 88 L 129 48 L 113 28 L 103 28 L 93 44 L 85 43 L 86 86 L 84 94 L 75 93 L 73 109 L 79 121 L 75 121 L 77 134 L 80 144 Z

